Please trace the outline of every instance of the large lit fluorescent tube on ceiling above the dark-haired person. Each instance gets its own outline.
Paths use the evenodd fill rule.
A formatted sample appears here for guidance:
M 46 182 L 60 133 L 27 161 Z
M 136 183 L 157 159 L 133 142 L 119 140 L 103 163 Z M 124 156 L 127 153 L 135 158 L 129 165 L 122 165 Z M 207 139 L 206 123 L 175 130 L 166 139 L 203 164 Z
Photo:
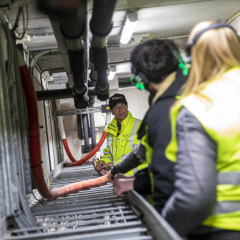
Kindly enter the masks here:
M 138 19 L 137 19 L 137 13 L 129 13 L 127 15 L 125 24 L 122 29 L 122 35 L 120 39 L 120 43 L 127 44 L 129 40 L 131 39 L 131 36 L 137 26 Z

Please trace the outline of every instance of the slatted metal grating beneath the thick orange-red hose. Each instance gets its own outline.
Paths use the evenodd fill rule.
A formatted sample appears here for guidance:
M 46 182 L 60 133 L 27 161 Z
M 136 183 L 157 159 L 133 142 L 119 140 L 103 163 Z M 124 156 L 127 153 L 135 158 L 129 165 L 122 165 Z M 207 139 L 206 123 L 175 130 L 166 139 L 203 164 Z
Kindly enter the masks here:
M 91 164 L 64 168 L 50 188 L 99 177 Z M 14 230 L 14 239 L 154 239 L 127 200 L 112 193 L 112 184 L 46 201 L 32 207 L 37 226 Z

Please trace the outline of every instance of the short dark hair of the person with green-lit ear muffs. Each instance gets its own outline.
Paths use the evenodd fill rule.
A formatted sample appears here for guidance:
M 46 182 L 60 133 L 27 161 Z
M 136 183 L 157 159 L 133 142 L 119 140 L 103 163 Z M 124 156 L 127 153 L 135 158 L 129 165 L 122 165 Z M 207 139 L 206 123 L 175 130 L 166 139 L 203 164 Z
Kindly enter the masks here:
M 131 63 L 136 72 L 142 72 L 148 81 L 159 83 L 178 68 L 178 47 L 171 40 L 149 40 L 136 46 Z

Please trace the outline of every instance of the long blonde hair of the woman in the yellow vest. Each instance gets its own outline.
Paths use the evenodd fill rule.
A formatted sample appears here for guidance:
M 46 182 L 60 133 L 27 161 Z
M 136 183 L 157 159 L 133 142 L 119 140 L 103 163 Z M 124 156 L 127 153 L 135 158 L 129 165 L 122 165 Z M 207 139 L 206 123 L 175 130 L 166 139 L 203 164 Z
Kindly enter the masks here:
M 188 41 L 196 33 L 216 21 L 197 24 Z M 240 43 L 236 33 L 230 28 L 212 29 L 203 33 L 191 50 L 192 67 L 182 97 L 191 93 L 201 95 L 200 91 L 210 80 L 220 77 L 224 72 L 240 67 Z

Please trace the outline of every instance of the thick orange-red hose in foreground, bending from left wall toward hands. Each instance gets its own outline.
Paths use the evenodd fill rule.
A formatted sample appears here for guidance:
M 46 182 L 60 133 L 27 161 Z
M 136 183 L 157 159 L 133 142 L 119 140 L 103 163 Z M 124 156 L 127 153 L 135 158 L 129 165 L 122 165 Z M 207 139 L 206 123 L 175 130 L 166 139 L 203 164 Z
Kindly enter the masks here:
M 54 200 L 59 197 L 66 196 L 70 193 L 76 193 L 81 190 L 98 187 L 108 182 L 107 176 L 68 184 L 66 186 L 49 190 L 44 180 L 41 166 L 41 150 L 40 150 L 40 131 L 38 120 L 37 98 L 28 67 L 24 62 L 23 56 L 18 51 L 19 68 L 22 86 L 26 98 L 28 124 L 29 124 L 29 142 L 30 142 L 30 159 L 32 168 L 32 178 L 34 185 L 38 189 L 41 196 L 47 200 Z

